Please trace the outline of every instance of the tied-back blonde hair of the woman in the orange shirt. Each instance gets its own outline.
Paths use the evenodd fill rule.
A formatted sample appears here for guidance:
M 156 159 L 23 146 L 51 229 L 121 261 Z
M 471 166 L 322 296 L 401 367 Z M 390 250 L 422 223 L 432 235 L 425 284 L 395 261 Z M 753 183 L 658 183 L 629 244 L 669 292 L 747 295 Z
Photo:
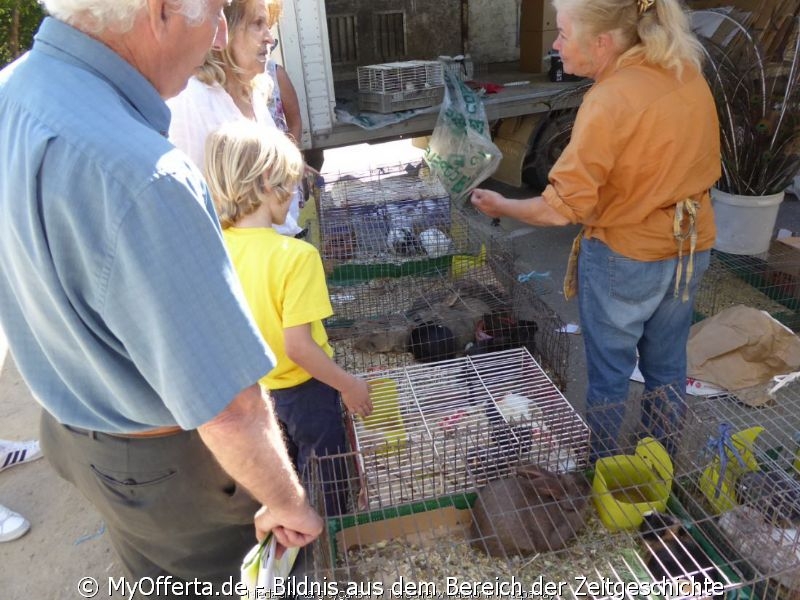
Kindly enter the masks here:
M 642 14 L 637 0 L 553 0 L 553 6 L 582 34 L 610 33 L 622 50 L 619 61 L 645 61 L 679 77 L 687 64 L 702 68 L 703 48 L 678 0 L 655 0 Z

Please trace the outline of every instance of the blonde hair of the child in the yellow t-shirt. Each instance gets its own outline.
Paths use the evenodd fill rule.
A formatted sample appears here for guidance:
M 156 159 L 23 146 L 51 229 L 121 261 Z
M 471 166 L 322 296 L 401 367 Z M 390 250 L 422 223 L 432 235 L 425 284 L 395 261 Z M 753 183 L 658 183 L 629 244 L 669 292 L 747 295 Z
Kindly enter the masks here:
M 206 181 L 223 229 L 255 212 L 269 196 L 264 186 L 283 188 L 286 201 L 303 173 L 297 146 L 279 129 L 233 121 L 206 140 Z

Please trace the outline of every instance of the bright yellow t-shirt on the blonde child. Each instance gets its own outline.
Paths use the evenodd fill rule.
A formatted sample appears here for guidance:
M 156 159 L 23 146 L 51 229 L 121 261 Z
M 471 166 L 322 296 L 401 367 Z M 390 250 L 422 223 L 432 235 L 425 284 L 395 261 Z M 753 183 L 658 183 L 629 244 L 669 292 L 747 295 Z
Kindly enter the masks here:
M 275 368 L 259 382 L 275 390 L 308 381 L 311 375 L 286 356 L 283 329 L 310 323 L 314 341 L 333 356 L 322 325 L 333 308 L 319 252 L 271 228 L 229 227 L 223 235 L 253 317 L 276 358 Z

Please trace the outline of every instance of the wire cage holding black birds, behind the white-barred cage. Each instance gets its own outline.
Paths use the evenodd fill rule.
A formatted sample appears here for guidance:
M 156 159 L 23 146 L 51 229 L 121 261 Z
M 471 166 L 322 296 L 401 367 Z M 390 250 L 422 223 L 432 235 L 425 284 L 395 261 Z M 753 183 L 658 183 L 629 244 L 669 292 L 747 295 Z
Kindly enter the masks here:
M 477 256 L 429 263 L 412 275 L 352 284 L 329 280 L 334 315 L 325 326 L 337 363 L 353 372 L 527 348 L 566 386 L 563 322 L 520 282 L 502 244 Z

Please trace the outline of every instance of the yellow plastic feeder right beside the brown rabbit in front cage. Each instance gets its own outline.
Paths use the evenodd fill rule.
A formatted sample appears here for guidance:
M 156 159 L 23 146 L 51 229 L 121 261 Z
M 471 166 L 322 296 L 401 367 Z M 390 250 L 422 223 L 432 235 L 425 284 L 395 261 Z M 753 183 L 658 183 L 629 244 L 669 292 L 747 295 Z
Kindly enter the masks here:
M 658 440 L 643 438 L 634 454 L 600 458 L 594 468 L 592 497 L 609 531 L 636 529 L 645 513 L 666 509 L 673 466 Z

